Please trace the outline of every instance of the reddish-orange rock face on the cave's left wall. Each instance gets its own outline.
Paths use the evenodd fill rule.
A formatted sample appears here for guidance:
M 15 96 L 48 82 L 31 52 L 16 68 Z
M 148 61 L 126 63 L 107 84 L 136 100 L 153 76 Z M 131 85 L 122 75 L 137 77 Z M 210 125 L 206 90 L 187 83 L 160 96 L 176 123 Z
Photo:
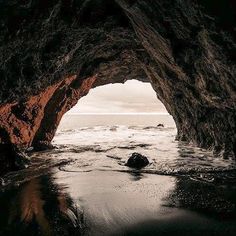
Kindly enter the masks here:
M 68 77 L 22 103 L 1 105 L 1 144 L 39 148 L 45 146 L 42 142 L 50 143 L 63 114 L 85 96 L 96 81 L 95 76 L 85 79 L 74 89 L 76 79 L 77 76 Z

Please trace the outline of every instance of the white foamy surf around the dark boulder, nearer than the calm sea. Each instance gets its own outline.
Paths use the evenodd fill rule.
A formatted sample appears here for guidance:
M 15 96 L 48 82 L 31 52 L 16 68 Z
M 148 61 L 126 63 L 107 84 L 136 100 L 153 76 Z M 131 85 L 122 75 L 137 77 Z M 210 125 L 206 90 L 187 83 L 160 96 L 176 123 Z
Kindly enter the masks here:
M 64 131 L 57 134 L 54 145 L 63 158 L 73 159 L 63 171 L 124 171 L 134 172 L 124 164 L 133 152 L 148 156 L 151 164 L 142 173 L 159 175 L 196 175 L 196 180 L 212 177 L 201 174 L 222 173 L 228 176 L 236 170 L 235 160 L 214 156 L 192 144 L 175 141 L 176 129 L 155 126 L 97 126 Z M 62 144 L 66 146 L 62 147 Z M 53 156 L 56 152 L 52 151 Z M 224 176 L 224 178 L 226 178 Z M 230 177 L 229 177 L 230 178 Z M 215 179 L 215 178 L 214 178 Z M 211 182 L 210 180 L 208 182 Z

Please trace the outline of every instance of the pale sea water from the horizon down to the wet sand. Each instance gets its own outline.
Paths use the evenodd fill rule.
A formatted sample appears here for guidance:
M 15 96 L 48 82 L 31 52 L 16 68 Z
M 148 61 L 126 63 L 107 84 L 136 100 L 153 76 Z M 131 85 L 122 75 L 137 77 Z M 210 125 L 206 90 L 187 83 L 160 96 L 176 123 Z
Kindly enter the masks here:
M 142 170 L 145 173 L 199 174 L 235 169 L 233 160 L 177 142 L 175 136 L 169 115 L 73 115 L 64 117 L 53 144 L 64 158 L 73 159 L 64 171 L 129 171 L 125 163 L 133 152 L 150 159 L 151 164 Z

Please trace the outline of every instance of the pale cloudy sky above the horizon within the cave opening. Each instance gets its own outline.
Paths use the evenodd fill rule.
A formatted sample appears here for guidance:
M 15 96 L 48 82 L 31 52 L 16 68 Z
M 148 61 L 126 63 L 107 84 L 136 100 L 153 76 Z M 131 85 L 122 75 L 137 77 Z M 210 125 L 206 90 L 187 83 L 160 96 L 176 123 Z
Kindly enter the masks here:
M 150 83 L 129 80 L 90 90 L 68 114 L 167 113 Z

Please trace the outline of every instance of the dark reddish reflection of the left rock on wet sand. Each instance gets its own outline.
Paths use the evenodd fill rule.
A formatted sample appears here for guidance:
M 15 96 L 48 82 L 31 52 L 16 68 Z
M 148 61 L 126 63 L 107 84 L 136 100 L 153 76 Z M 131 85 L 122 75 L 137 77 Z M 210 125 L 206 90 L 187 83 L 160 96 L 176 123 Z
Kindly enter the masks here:
M 83 211 L 53 182 L 30 180 L 0 195 L 0 235 L 81 235 Z

